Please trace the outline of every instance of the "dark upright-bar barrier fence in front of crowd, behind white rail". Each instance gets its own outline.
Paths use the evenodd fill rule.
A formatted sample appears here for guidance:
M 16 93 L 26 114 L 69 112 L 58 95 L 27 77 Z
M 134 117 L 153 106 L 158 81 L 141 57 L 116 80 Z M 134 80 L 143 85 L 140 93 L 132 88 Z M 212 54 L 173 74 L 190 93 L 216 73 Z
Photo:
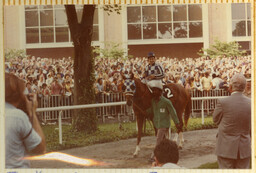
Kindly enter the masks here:
M 202 113 L 202 109 L 207 114 L 213 111 L 217 102 L 217 98 L 220 96 L 228 96 L 229 93 L 225 90 L 210 90 L 206 91 L 192 91 L 192 115 Z M 133 115 L 132 110 L 125 105 L 125 98 L 122 93 L 107 93 L 96 95 L 96 103 L 93 104 L 96 108 L 97 117 L 101 118 L 105 122 L 105 118 L 112 116 L 120 118 L 120 115 Z M 120 104 L 108 104 L 108 103 L 120 103 Z M 121 104 L 122 103 L 122 104 Z M 73 97 L 72 96 L 49 96 L 39 98 L 39 109 L 47 108 L 51 111 L 40 111 L 41 119 L 44 122 L 57 121 L 59 116 L 59 109 L 56 107 L 70 107 L 70 109 L 62 110 L 62 119 L 68 120 L 73 115 Z M 111 106 L 109 106 L 111 105 Z M 133 115 L 134 119 L 134 115 Z

